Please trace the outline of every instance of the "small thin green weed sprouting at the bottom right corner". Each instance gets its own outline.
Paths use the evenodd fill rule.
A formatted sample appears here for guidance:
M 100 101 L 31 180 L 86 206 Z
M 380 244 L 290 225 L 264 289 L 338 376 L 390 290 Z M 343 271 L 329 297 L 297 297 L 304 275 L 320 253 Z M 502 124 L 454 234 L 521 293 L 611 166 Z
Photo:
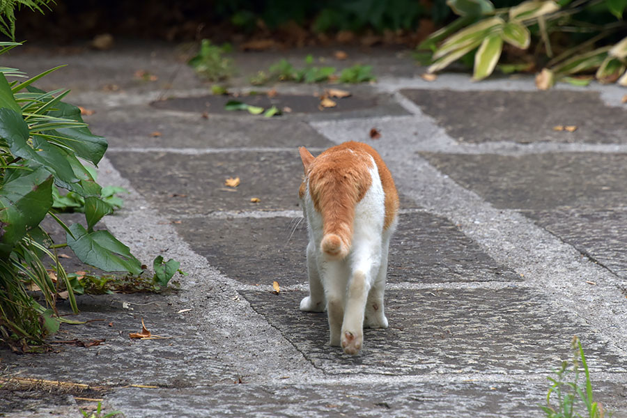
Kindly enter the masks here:
M 573 341 L 571 341 L 571 350 L 573 352 L 572 366 L 569 367 L 568 362 L 564 360 L 560 368 L 555 370 L 557 378 L 547 377 L 552 386 L 546 395 L 546 405 L 541 405 L 540 408 L 545 412 L 547 418 L 582 418 L 584 416 L 603 418 L 605 410 L 601 403 L 594 402 L 588 364 L 581 341 L 577 336 L 573 337 Z M 585 387 L 579 383 L 580 362 L 585 373 Z M 587 414 L 581 415 L 578 412 L 577 405 L 580 403 L 585 405 Z

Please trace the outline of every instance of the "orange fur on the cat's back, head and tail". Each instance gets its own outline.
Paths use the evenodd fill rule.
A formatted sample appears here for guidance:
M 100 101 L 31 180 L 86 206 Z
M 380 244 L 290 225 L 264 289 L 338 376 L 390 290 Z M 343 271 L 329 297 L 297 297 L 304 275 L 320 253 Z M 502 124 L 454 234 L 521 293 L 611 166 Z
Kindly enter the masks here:
M 304 147 L 300 148 L 306 180 L 309 179 L 309 193 L 314 208 L 323 217 L 325 236 L 323 251 L 336 258 L 344 258 L 350 250 L 353 237 L 355 205 L 361 201 L 371 186 L 369 170 L 372 160 L 377 164 L 385 193 L 385 224 L 387 229 L 398 212 L 398 194 L 394 180 L 380 155 L 371 146 L 360 142 L 345 142 L 325 150 L 314 159 Z M 302 182 L 299 195 L 302 198 L 307 189 Z M 336 238 L 341 243 L 336 242 Z

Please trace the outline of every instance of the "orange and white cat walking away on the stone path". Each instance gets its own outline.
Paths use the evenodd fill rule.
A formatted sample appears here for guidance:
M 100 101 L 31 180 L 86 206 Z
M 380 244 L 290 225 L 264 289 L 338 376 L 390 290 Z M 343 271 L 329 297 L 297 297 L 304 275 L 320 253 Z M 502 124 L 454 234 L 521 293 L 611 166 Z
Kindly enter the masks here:
M 380 155 L 345 142 L 314 157 L 299 148 L 299 197 L 307 219 L 309 296 L 301 311 L 326 309 L 330 345 L 355 355 L 364 325 L 387 328 L 383 294 L 389 240 L 398 223 L 398 193 Z

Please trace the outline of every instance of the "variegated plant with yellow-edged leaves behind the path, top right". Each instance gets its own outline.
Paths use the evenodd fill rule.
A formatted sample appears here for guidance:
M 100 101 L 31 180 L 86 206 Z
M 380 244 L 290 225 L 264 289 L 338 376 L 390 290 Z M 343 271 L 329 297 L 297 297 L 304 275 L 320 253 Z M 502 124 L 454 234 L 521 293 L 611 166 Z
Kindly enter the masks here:
M 627 85 L 627 38 L 607 45 L 619 30 L 627 28 L 621 19 L 627 8 L 624 0 L 527 0 L 513 7 L 495 8 L 489 0 L 448 0 L 460 17 L 433 33 L 419 45 L 430 49 L 428 72 L 437 72 L 466 56 L 474 57 L 474 79 L 492 74 L 501 59 L 503 45 L 528 49 L 532 40 L 536 51 L 543 48 L 545 68 L 538 79 L 540 88 L 549 88 L 559 79 L 596 70 L 601 82 Z M 603 10 L 598 11 L 599 8 Z M 603 15 L 605 13 L 605 15 Z M 602 24 L 589 22 L 589 15 Z M 614 18 L 614 22 L 607 17 Z M 611 20 L 611 19 L 610 19 Z M 575 33 L 576 46 L 555 56 L 552 38 L 559 33 Z M 562 36 L 562 38 L 564 38 Z M 601 45 L 605 42 L 605 45 Z

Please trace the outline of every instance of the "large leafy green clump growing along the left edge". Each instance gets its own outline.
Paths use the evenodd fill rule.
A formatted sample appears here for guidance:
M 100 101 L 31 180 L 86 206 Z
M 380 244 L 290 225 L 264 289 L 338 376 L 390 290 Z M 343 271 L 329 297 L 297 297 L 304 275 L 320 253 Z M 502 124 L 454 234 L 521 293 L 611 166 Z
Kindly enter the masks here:
M 17 45 L 0 42 L 0 55 Z M 22 82 L 8 82 L 6 77 L 24 79 L 24 73 L 0 68 L 0 334 L 6 342 L 22 341 L 22 347 L 59 327 L 62 319 L 55 303 L 61 284 L 77 311 L 57 248 L 67 245 L 81 261 L 104 271 L 142 271 L 128 247 L 108 231 L 93 229 L 116 205 L 115 199 L 107 201 L 115 189 L 103 192 L 87 168 L 98 164 L 107 141 L 91 133 L 77 107 L 62 101 L 68 91 L 45 92 L 32 86 L 61 67 Z M 65 225 L 54 215 L 57 187 L 80 196 L 86 229 Z M 66 244 L 52 245 L 40 226 L 46 215 L 65 229 Z M 56 283 L 45 260 L 56 268 Z M 43 304 L 26 293 L 29 282 L 41 290 Z

